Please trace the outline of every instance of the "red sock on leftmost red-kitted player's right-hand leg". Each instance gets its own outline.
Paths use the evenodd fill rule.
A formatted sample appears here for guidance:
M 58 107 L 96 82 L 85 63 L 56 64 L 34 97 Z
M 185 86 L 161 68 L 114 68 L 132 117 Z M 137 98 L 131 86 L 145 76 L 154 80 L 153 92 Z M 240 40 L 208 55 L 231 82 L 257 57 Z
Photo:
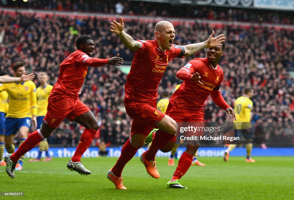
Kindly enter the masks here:
M 72 162 L 80 162 L 83 153 L 87 150 L 87 148 L 91 145 L 92 140 L 96 134 L 97 130 L 93 130 L 90 128 L 86 128 L 81 135 L 80 142 L 78 143 L 78 147 L 76 148 L 76 152 L 74 156 L 71 158 Z

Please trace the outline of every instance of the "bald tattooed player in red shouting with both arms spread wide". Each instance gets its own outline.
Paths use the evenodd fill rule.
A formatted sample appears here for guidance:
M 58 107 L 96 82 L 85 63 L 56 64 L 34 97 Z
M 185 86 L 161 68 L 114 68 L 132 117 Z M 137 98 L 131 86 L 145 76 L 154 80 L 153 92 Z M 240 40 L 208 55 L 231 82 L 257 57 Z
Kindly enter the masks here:
M 176 134 L 177 124 L 171 117 L 156 109 L 157 89 L 161 77 L 171 58 L 193 55 L 197 51 L 221 46 L 223 35 L 213 38 L 214 31 L 205 42 L 186 46 L 173 45 L 175 30 L 168 21 L 160 21 L 154 30 L 154 40 L 133 40 L 123 31 L 123 18 L 120 22 L 111 22 L 110 31 L 116 33 L 123 44 L 135 52 L 131 71 L 125 85 L 125 107 L 128 115 L 133 118 L 131 137 L 121 150 L 121 156 L 116 164 L 108 171 L 107 177 L 117 189 L 126 189 L 123 186 L 121 172 L 126 163 L 141 148 L 152 128 L 159 128 L 150 148 L 141 156 L 141 162 L 148 174 L 153 178 L 160 175 L 156 169 L 156 152 L 166 145 Z

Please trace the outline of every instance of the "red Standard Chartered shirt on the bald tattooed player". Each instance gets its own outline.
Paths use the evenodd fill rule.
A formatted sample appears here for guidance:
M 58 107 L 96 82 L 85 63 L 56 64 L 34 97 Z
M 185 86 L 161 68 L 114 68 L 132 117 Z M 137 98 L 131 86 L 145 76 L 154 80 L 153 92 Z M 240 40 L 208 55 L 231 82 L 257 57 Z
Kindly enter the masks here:
M 138 40 L 141 47 L 136 51 L 125 85 L 125 103 L 156 103 L 157 88 L 169 60 L 183 57 L 185 48 L 173 45 L 164 52 L 155 40 Z

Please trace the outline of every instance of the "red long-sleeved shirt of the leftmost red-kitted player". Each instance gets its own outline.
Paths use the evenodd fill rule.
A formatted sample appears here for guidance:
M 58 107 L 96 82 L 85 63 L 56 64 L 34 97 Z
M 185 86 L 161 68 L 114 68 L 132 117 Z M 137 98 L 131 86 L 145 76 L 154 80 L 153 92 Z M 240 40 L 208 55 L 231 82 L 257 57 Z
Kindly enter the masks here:
M 85 52 L 76 50 L 60 64 L 60 73 L 51 94 L 69 95 L 78 98 L 88 66 L 100 67 L 106 65 L 109 59 L 91 58 Z

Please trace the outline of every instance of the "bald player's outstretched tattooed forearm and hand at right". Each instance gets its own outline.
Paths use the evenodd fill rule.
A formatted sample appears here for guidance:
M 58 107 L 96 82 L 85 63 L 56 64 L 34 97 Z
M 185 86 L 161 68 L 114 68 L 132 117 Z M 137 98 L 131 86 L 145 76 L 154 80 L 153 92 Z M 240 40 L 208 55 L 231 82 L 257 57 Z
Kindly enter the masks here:
M 208 37 L 208 39 L 205 42 L 196 43 L 196 44 L 189 44 L 185 45 L 185 55 L 184 56 L 190 56 L 196 53 L 199 50 L 202 50 L 204 48 L 215 48 L 217 46 L 223 45 L 222 43 L 225 41 L 225 37 L 223 37 L 223 34 L 218 35 L 217 37 L 213 38 L 214 30 L 212 31 L 211 35 Z

